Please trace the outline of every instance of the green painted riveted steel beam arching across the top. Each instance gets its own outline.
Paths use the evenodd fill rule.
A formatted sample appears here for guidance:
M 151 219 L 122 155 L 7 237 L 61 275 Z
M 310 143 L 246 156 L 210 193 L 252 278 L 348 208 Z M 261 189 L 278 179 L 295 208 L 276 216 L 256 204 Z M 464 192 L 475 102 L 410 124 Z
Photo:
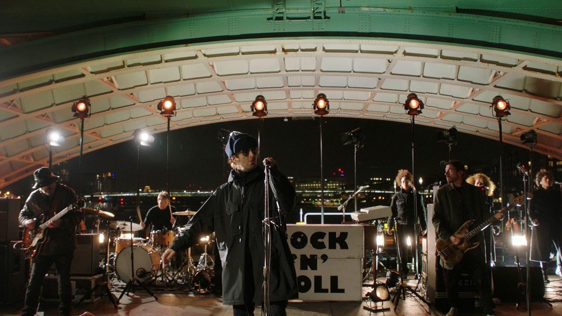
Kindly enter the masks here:
M 146 49 L 270 38 L 373 38 L 479 46 L 562 59 L 562 26 L 453 12 L 327 7 L 204 13 L 126 22 L 65 33 L 0 49 L 0 79 L 74 62 Z

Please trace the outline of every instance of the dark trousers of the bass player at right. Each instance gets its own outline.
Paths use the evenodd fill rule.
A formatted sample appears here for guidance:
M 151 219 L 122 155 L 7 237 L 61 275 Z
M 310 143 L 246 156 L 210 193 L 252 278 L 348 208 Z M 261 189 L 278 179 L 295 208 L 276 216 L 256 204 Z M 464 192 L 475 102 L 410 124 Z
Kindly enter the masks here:
M 481 247 L 466 251 L 463 261 L 456 264 L 451 270 L 443 268 L 449 305 L 455 308 L 460 307 L 458 288 L 460 274 L 463 270 L 472 277 L 480 292 L 484 314 L 493 314 L 490 267 L 486 265 L 486 256 Z

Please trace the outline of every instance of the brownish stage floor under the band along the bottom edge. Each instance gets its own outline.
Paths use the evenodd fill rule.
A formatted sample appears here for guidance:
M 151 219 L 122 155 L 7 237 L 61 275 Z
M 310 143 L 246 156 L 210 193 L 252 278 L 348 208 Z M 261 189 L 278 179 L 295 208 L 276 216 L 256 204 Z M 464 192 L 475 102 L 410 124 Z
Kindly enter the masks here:
M 562 279 L 558 276 L 550 276 L 550 284 L 546 285 L 546 298 L 554 301 L 562 302 Z M 415 285 L 414 280 L 409 281 L 411 285 Z M 364 287 L 364 292 L 370 291 L 370 288 Z M 119 296 L 120 292 L 113 292 Z M 151 316 L 173 316 L 173 315 L 189 315 L 189 316 L 230 316 L 232 315 L 232 306 L 222 304 L 220 297 L 212 294 L 164 294 L 156 293 L 158 297 L 156 301 L 152 296 L 140 290 L 137 287 L 136 293 L 130 296 L 124 296 L 117 306 L 117 310 L 113 308 L 107 297 L 95 303 L 81 304 L 72 309 L 72 315 L 80 315 L 84 312 L 92 313 L 96 316 L 109 315 L 151 315 Z M 562 303 L 552 303 L 552 308 L 546 303 L 532 303 L 533 315 L 562 315 Z M 365 301 L 329 301 L 329 302 L 302 302 L 291 301 L 287 308 L 288 316 L 364 316 L 375 315 L 363 309 L 366 306 Z M 406 297 L 406 300 L 400 300 L 396 312 L 393 311 L 394 305 L 387 301 L 384 307 L 389 307 L 389 312 L 377 313 L 378 315 L 442 315 L 435 310 L 429 309 L 427 305 L 420 302 L 415 297 Z M 57 303 L 49 303 L 44 305 L 44 315 L 58 315 Z M 21 306 L 0 306 L 0 315 L 20 315 Z M 255 315 L 260 315 L 259 306 Z M 525 315 L 526 310 L 519 311 L 515 309 L 514 303 L 502 303 L 496 306 L 496 315 Z

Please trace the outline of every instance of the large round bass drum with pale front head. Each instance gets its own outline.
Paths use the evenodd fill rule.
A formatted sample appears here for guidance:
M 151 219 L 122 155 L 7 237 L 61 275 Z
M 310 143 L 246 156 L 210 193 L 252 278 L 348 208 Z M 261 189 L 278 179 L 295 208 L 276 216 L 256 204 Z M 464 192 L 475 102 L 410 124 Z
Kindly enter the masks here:
M 139 282 L 144 282 L 155 274 L 160 266 L 160 255 L 151 246 L 129 246 L 121 250 L 115 259 L 117 276 L 129 282 L 131 276 L 131 251 L 133 251 L 134 274 Z

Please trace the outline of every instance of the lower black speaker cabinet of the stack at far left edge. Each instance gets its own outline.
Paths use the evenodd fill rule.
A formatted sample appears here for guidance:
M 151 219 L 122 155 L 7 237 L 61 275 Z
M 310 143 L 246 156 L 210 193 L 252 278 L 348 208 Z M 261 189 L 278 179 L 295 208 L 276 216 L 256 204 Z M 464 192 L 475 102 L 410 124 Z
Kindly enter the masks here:
M 15 242 L 0 243 L 0 302 L 21 303 L 25 295 L 25 258 Z

